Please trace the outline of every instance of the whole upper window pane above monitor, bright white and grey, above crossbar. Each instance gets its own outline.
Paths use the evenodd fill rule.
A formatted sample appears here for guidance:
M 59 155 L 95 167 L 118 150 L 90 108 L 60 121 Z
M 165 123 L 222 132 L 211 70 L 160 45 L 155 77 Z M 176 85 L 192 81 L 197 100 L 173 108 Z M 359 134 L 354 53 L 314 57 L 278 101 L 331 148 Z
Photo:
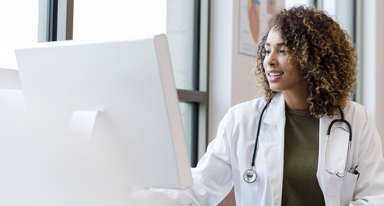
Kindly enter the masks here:
M 178 89 L 193 90 L 193 26 L 194 0 L 74 3 L 73 40 L 167 34 Z

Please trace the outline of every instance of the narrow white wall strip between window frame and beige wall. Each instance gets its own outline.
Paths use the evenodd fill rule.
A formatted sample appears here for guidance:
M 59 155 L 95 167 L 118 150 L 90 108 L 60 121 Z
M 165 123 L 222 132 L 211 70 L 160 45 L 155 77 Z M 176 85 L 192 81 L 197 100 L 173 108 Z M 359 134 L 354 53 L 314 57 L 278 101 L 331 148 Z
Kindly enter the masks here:
M 231 107 L 233 3 L 211 0 L 208 142 Z

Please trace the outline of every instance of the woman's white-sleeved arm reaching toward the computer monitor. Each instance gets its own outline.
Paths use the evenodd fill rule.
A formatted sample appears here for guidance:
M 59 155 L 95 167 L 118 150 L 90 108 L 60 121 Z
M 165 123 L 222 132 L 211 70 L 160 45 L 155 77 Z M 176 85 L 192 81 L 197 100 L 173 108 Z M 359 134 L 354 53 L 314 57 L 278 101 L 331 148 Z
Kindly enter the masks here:
M 138 205 L 217 205 L 233 186 L 230 138 L 233 130 L 232 109 L 218 126 L 217 136 L 207 152 L 191 168 L 193 186 L 185 190 L 149 189 L 129 195 Z

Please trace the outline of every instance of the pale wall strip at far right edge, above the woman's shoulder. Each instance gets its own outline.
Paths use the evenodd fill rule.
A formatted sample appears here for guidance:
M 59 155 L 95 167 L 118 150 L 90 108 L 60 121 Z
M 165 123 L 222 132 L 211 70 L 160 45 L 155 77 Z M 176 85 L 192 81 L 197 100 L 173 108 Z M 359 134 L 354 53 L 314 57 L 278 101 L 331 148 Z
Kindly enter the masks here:
M 384 41 L 384 7 L 382 0 L 362 1 L 362 105 L 372 115 L 379 131 L 384 151 L 384 75 L 382 47 Z

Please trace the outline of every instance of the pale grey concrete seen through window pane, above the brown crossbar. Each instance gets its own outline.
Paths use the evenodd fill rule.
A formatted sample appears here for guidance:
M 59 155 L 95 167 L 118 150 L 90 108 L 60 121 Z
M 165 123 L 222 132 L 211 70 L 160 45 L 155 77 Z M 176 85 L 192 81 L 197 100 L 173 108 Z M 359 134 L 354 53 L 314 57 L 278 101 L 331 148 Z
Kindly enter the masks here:
M 168 0 L 167 40 L 176 88 L 193 87 L 194 0 Z

